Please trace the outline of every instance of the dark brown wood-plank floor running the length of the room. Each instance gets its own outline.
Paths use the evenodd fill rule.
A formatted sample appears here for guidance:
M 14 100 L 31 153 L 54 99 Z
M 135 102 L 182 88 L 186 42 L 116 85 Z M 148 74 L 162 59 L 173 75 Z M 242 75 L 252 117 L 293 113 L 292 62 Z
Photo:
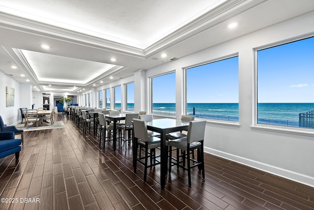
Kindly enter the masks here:
M 207 153 L 205 180 L 194 168 L 188 187 L 187 173 L 173 167 L 161 190 L 159 166 L 146 183 L 140 164 L 133 173 L 130 145 L 99 150 L 97 137 L 55 116 L 66 128 L 25 132 L 20 160 L 0 159 L 0 197 L 19 201 L 0 210 L 314 210 L 314 188 Z

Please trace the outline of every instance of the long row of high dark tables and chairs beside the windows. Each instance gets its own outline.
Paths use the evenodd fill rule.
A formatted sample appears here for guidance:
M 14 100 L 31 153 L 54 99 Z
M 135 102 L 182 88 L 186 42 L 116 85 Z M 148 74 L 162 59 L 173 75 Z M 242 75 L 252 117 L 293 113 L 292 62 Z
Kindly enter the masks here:
M 157 165 L 160 167 L 161 189 L 166 185 L 166 177 L 171 173 L 172 166 L 188 172 L 188 186 L 191 186 L 190 173 L 194 167 L 198 167 L 202 179 L 205 179 L 206 120 L 195 120 L 193 116 L 182 116 L 179 120 L 155 119 L 153 115 L 146 115 L 145 111 L 121 113 L 120 110 L 74 106 L 69 107 L 69 113 L 70 119 L 84 136 L 97 138 L 100 150 L 106 150 L 106 144 L 110 145 L 113 152 L 119 152 L 122 148 L 130 150 L 133 172 L 136 174 L 138 163 L 142 164 L 144 181 L 147 179 L 147 170 Z

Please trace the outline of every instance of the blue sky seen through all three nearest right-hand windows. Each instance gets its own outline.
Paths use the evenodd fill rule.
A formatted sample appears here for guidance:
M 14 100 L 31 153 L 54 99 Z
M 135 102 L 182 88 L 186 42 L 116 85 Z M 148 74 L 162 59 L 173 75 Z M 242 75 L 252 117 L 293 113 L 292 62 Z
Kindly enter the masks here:
M 253 70 L 253 69 L 252 69 Z M 238 58 L 187 69 L 187 103 L 238 103 Z M 153 102 L 175 103 L 175 73 L 153 79 Z M 259 103 L 313 103 L 314 37 L 258 51 Z

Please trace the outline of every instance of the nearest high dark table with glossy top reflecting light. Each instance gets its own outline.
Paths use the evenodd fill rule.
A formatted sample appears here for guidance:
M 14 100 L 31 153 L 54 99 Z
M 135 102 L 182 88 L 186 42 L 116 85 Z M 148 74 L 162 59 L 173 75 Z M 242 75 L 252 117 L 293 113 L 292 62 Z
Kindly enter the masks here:
M 152 121 L 146 121 L 147 130 L 151 130 L 157 133 L 160 133 L 160 186 L 161 189 L 164 189 L 167 176 L 167 158 L 168 158 L 168 149 L 166 147 L 166 134 L 171 132 L 188 130 L 189 121 L 176 120 L 170 118 L 163 119 L 154 119 Z M 133 138 L 133 166 L 136 163 L 136 144 L 134 141 L 137 141 Z

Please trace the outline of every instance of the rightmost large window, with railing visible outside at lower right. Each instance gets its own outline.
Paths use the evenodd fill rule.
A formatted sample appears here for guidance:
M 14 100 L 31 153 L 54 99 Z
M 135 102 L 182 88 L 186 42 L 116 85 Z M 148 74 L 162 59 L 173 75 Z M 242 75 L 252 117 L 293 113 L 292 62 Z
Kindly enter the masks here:
M 257 123 L 314 128 L 314 37 L 257 51 Z

